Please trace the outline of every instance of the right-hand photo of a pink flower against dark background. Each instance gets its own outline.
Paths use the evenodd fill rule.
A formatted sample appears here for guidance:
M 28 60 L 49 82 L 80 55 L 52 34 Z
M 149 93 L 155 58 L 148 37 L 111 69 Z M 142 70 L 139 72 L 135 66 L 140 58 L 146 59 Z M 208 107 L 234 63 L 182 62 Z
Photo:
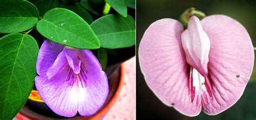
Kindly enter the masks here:
M 137 119 L 255 119 L 255 1 L 137 1 Z

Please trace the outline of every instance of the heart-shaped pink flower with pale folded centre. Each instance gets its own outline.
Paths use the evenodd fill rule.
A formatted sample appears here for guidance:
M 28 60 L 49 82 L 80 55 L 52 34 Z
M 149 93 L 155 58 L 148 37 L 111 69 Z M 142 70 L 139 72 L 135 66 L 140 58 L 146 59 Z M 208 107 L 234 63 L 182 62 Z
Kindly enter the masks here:
M 251 38 L 236 20 L 192 16 L 188 28 L 174 19 L 150 25 L 139 46 L 145 80 L 166 105 L 187 116 L 217 115 L 239 100 L 251 76 Z

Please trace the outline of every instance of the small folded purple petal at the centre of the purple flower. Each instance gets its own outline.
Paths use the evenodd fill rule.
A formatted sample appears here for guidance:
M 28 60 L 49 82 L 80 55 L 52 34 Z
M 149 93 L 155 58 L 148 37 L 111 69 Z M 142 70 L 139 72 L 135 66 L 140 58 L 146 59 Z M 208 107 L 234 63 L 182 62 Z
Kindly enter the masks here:
M 78 59 L 77 51 L 73 49 L 66 49 L 65 54 L 69 66 L 73 69 L 73 72 L 75 74 L 80 73 L 81 60 Z

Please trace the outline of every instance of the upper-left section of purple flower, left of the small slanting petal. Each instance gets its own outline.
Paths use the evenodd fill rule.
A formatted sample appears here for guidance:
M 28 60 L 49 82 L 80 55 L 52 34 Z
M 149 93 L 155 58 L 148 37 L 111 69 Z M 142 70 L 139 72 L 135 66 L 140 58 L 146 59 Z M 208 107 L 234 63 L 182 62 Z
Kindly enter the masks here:
M 36 71 L 38 75 L 43 74 L 52 66 L 58 54 L 62 52 L 64 45 L 57 44 L 48 39 L 44 40 L 37 57 Z

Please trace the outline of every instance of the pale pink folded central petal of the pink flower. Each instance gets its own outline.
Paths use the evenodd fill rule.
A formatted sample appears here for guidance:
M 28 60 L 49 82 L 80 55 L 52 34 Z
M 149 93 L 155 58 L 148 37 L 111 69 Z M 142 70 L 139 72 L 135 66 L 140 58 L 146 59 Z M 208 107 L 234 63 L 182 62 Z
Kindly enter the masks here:
M 208 74 L 210 40 L 196 16 L 190 18 L 187 30 L 181 34 L 181 42 L 186 53 L 187 63 L 196 68 L 201 75 L 206 76 Z

